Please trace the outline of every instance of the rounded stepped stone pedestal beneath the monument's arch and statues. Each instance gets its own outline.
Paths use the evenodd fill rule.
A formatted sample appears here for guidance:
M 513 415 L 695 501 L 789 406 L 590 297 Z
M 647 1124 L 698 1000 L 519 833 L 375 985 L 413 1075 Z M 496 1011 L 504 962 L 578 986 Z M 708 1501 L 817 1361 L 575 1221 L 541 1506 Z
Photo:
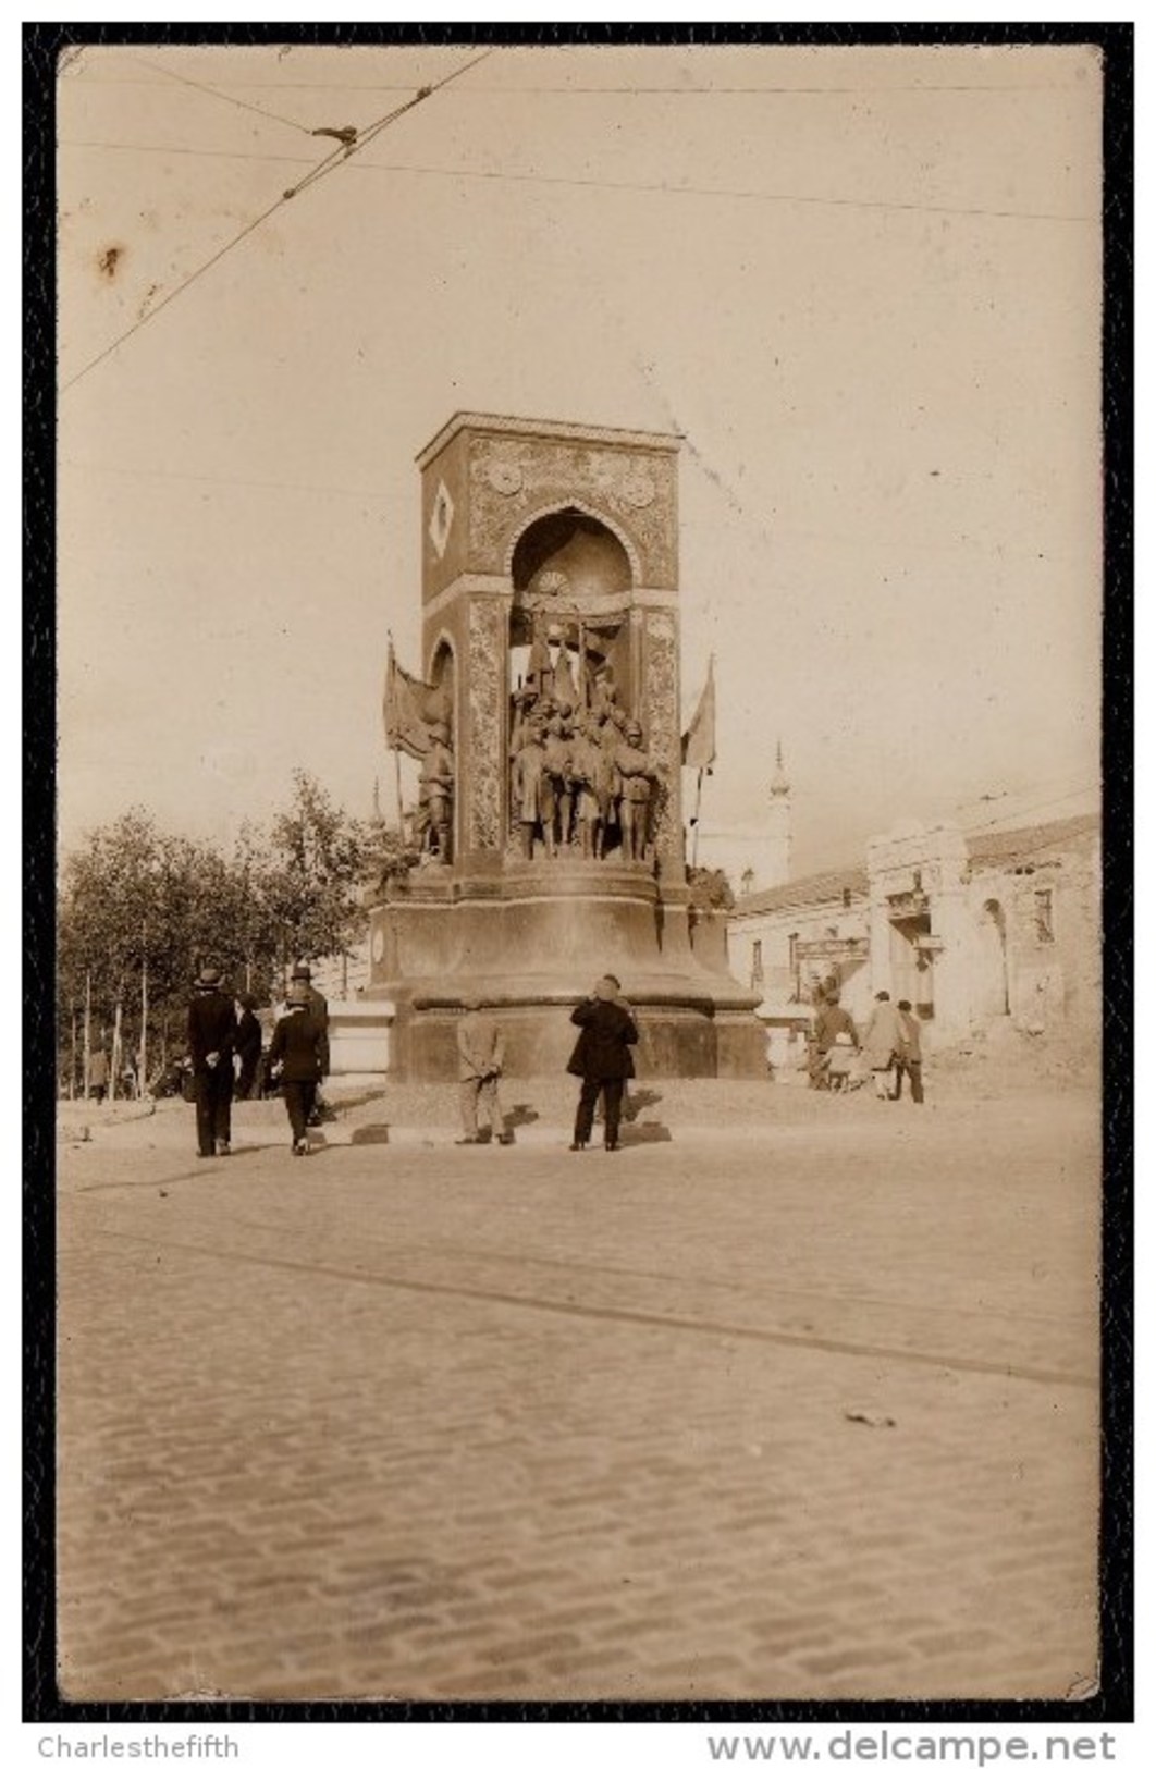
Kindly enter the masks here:
M 757 996 L 698 961 L 689 922 L 688 890 L 659 890 L 642 863 L 421 870 L 371 909 L 366 1001 L 394 1005 L 391 1074 L 454 1079 L 472 996 L 502 1022 L 507 1076 L 560 1074 L 569 1014 L 610 971 L 638 1019 L 640 1077 L 764 1076 Z

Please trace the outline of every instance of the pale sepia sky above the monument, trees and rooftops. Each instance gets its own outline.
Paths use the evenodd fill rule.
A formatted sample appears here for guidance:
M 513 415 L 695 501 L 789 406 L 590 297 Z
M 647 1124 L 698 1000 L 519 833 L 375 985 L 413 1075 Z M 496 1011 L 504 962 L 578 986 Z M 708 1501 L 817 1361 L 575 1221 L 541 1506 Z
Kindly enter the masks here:
M 389 808 L 414 456 L 456 410 L 684 435 L 709 854 L 758 826 L 780 739 L 795 872 L 910 817 L 1091 807 L 1094 51 L 477 53 L 62 69 L 62 846 L 129 805 L 230 842 L 295 768 Z M 449 74 L 281 200 L 313 129 Z

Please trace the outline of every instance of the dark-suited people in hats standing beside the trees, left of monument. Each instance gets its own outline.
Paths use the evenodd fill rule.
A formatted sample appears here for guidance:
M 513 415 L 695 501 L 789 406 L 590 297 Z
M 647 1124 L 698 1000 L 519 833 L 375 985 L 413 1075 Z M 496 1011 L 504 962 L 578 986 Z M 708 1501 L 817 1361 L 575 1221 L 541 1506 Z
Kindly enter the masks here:
M 329 1005 L 313 987 L 308 964 L 295 964 L 285 1010 L 262 1049 L 262 1022 L 253 996 L 235 999 L 214 964 L 202 968 L 189 1005 L 189 1065 L 196 1106 L 196 1153 L 232 1150 L 233 1099 L 251 1099 L 265 1076 L 279 1084 L 293 1153 L 309 1152 L 308 1127 L 316 1122 L 318 1088 L 329 1074 Z

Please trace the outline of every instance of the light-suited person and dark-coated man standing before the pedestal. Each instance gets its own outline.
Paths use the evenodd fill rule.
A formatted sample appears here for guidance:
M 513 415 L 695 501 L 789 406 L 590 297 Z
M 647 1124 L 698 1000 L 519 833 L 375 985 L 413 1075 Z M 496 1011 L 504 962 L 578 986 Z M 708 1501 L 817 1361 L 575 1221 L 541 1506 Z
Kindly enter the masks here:
M 477 996 L 467 998 L 465 1012 L 458 1022 L 458 1091 L 461 1100 L 461 1137 L 460 1145 L 514 1141 L 506 1127 L 498 1081 L 502 1077 L 504 1042 L 502 1028 L 493 1014 L 483 1012 Z M 574 1139 L 569 1145 L 574 1153 L 589 1146 L 594 1130 L 594 1113 L 603 1107 L 605 1148 L 617 1153 L 620 1148 L 622 1095 L 626 1083 L 635 1074 L 631 1045 L 638 1044 L 638 1024 L 631 1007 L 622 998 L 622 985 L 610 973 L 599 976 L 592 992 L 580 1001 L 571 1014 L 571 1024 L 578 1026 L 567 1074 L 578 1076 L 582 1091 L 578 1095 L 578 1113 L 574 1116 Z M 479 1106 L 484 1109 L 488 1125 L 479 1129 Z

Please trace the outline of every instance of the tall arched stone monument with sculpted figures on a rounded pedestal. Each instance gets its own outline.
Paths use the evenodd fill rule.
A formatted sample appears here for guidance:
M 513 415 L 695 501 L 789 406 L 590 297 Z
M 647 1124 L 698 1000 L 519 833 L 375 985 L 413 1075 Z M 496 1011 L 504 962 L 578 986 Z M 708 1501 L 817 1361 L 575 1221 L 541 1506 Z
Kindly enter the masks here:
M 509 1076 L 562 1072 L 612 971 L 640 1077 L 762 1076 L 757 996 L 688 886 L 679 437 L 460 412 L 417 456 L 422 679 L 391 651 L 387 739 L 421 757 L 419 863 L 369 909 L 391 1072 L 456 1074 L 477 996 Z

